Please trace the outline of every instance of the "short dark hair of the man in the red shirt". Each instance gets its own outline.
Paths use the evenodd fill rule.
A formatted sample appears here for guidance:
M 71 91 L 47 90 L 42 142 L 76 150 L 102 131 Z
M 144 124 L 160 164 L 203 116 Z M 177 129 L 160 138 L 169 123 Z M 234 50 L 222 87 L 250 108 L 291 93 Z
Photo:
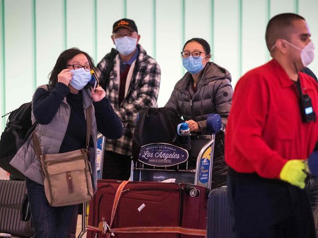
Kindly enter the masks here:
M 265 33 L 266 45 L 269 51 L 276 43 L 277 39 L 290 40 L 293 21 L 296 20 L 305 19 L 294 13 L 282 13 L 269 20 Z

